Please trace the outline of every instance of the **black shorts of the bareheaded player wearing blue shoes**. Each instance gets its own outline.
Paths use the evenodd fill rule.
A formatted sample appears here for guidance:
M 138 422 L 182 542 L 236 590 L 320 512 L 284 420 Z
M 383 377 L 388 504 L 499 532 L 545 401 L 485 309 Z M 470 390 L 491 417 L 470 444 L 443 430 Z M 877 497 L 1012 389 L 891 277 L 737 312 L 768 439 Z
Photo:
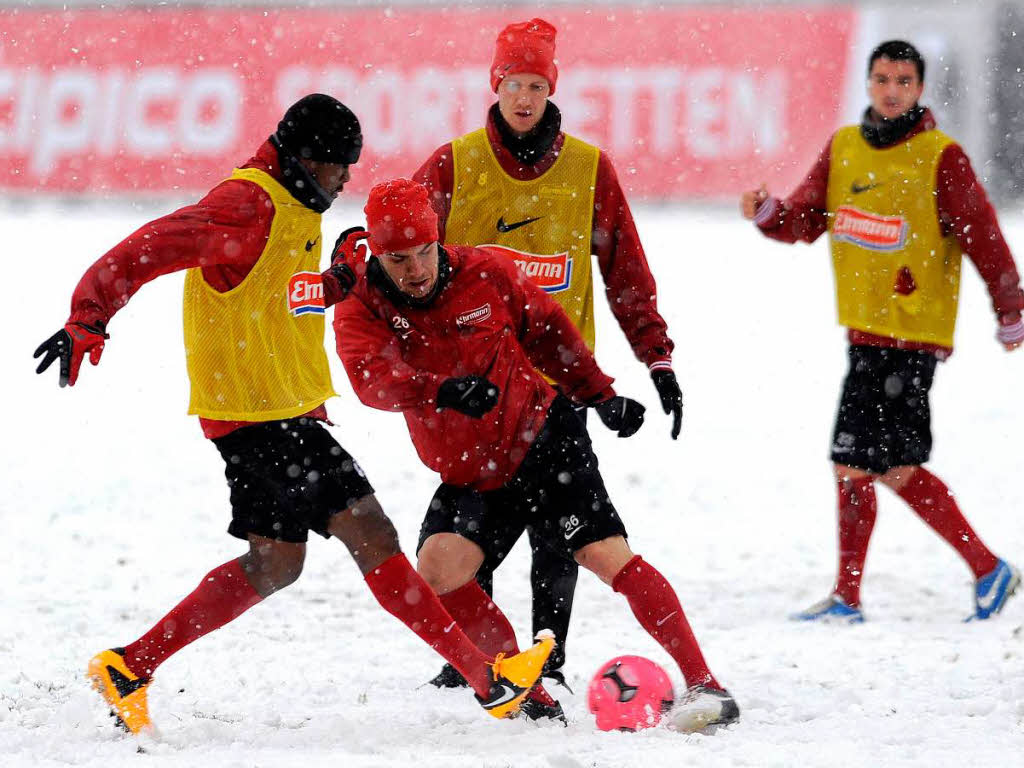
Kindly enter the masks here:
M 928 392 L 936 362 L 928 351 L 852 345 L 833 432 L 833 462 L 879 474 L 927 462 L 932 453 Z

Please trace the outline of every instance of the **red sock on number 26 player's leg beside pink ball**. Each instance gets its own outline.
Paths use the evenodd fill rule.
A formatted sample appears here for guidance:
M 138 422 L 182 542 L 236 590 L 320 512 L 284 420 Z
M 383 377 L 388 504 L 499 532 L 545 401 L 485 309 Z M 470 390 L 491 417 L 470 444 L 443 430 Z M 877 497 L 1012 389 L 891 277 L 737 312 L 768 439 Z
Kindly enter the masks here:
M 611 589 L 626 597 L 647 634 L 676 660 L 687 686 L 722 687 L 708 669 L 675 590 L 657 569 L 636 555 L 615 574 Z

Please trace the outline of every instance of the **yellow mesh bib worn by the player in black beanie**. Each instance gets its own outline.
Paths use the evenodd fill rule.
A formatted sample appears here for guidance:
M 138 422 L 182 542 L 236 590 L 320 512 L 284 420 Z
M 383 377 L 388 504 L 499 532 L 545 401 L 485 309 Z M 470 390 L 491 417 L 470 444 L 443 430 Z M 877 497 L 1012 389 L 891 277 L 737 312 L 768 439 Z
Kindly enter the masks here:
M 300 416 L 335 394 L 324 351 L 321 215 L 263 171 L 236 169 L 230 178 L 266 191 L 273 221 L 259 260 L 230 291 L 211 288 L 202 269 L 185 274 L 188 413 L 222 421 Z

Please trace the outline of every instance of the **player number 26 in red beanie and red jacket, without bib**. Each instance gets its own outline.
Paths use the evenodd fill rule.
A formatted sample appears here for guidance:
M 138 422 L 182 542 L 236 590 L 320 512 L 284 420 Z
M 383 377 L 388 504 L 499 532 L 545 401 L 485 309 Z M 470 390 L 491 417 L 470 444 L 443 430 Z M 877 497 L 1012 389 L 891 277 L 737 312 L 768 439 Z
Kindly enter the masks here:
M 481 649 L 514 652 L 515 632 L 476 573 L 494 542 L 529 526 L 542 546 L 623 594 L 679 665 L 688 691 L 677 728 L 737 720 L 675 591 L 627 544 L 574 410 L 593 408 L 629 437 L 643 406 L 615 394 L 565 311 L 500 249 L 442 248 L 425 187 L 378 184 L 365 211 L 373 256 L 353 265 L 364 273 L 338 305 L 335 334 L 359 399 L 400 412 L 420 458 L 440 473 L 420 530 L 420 574 Z M 561 715 L 543 686 L 526 700 Z

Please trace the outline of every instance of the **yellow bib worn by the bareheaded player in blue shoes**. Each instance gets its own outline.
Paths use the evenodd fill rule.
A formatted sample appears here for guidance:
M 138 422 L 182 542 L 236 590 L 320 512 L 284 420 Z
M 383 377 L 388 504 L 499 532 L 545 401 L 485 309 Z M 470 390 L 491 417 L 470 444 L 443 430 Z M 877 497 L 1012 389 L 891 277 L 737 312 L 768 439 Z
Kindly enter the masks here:
M 942 236 L 936 207 L 939 159 L 950 143 L 937 130 L 881 150 L 858 126 L 833 136 L 828 233 L 842 325 L 953 345 L 962 254 Z

